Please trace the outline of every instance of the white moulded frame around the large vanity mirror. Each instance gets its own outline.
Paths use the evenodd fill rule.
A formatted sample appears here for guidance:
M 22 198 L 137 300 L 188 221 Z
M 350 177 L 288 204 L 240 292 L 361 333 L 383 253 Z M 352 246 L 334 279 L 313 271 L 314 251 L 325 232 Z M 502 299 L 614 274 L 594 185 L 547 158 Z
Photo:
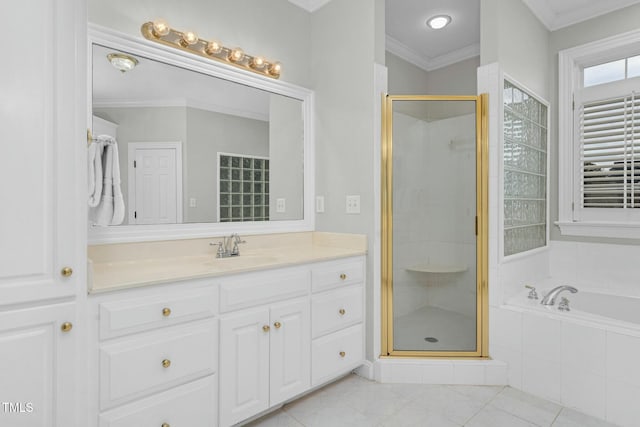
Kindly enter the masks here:
M 175 65 L 188 70 L 207 74 L 212 77 L 229 80 L 256 89 L 284 95 L 302 101 L 304 128 L 304 185 L 303 218 L 301 220 L 225 222 L 225 223 L 188 223 L 157 225 L 118 225 L 112 227 L 88 226 L 89 244 L 141 242 L 152 240 L 177 240 L 187 238 L 216 237 L 231 233 L 270 234 L 313 231 L 315 227 L 315 168 L 314 168 L 314 93 L 312 90 L 296 86 L 281 80 L 259 76 L 221 62 L 207 60 L 178 49 L 169 49 L 161 44 L 152 43 L 140 35 L 132 37 L 109 28 L 89 23 L 88 25 L 88 62 L 87 129 L 92 128 L 93 112 L 93 55 L 94 44 L 125 51 L 132 55 Z M 87 208 L 88 212 L 88 208 Z M 87 215 L 88 218 L 88 215 Z

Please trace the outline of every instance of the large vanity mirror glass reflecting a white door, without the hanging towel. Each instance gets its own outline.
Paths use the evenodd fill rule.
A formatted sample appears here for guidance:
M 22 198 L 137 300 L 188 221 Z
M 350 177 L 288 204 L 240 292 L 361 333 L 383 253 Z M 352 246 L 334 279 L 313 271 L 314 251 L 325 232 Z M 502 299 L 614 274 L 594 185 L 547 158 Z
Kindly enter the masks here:
M 303 101 L 92 46 L 93 134 L 117 140 L 124 225 L 302 220 Z

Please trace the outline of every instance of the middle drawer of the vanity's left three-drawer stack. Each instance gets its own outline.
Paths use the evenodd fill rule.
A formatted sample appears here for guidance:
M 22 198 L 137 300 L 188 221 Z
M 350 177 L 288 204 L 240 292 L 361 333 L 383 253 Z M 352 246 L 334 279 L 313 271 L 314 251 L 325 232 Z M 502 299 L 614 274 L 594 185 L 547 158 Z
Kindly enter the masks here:
M 217 358 L 217 319 L 102 345 L 100 406 L 106 409 L 212 374 Z

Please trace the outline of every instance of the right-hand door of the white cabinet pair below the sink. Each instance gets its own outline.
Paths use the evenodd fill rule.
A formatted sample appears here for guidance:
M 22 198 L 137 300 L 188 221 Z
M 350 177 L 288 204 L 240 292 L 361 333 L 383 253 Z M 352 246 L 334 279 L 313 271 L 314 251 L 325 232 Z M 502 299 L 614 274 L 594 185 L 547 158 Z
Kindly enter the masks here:
M 270 405 L 309 389 L 311 329 L 309 300 L 271 306 Z

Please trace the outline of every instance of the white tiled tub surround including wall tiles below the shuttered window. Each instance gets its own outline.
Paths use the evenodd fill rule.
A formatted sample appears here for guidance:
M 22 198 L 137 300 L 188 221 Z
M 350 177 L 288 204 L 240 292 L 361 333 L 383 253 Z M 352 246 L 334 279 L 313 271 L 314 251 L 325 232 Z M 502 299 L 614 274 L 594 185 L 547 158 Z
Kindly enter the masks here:
M 640 302 L 639 257 L 638 246 L 552 242 L 551 278 L 530 284 L 539 298 L 554 286 L 576 287 L 577 294 L 561 295 L 570 300 L 568 313 L 557 310 L 559 299 L 546 308 L 516 291 L 528 282 L 501 277 L 511 296 L 491 307 L 491 356 L 508 363 L 509 385 L 615 424 L 639 425 L 640 323 L 623 317 L 640 312 L 630 307 Z M 594 299 L 598 312 L 589 313 Z

